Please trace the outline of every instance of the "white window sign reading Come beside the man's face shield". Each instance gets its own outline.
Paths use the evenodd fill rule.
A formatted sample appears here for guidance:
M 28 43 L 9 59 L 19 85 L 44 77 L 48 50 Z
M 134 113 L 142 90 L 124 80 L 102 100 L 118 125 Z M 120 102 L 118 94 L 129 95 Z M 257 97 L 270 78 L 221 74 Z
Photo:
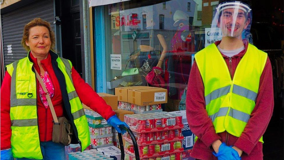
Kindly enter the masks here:
M 221 41 L 221 39 L 222 31 L 220 28 L 205 28 L 205 47 L 216 41 Z

